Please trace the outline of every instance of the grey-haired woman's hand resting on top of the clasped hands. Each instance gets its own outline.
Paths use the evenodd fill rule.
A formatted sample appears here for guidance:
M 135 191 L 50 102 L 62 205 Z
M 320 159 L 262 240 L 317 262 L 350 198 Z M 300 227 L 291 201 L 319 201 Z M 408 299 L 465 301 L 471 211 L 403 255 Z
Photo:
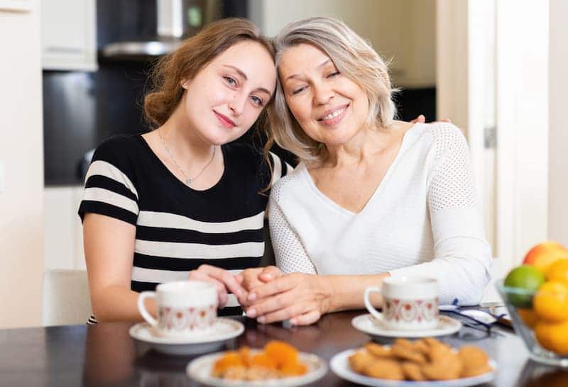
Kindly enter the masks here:
M 329 312 L 330 300 L 324 277 L 286 274 L 249 292 L 246 315 L 261 324 L 290 319 L 292 325 L 310 325 Z

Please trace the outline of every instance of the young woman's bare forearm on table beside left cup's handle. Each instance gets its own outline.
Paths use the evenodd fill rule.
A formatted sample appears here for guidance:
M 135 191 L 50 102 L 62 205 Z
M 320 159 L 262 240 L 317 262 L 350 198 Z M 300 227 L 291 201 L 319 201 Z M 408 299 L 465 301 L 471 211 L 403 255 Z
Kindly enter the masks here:
M 138 293 L 123 286 L 107 286 L 92 292 L 92 308 L 97 321 L 130 321 L 143 320 L 138 311 Z M 155 301 L 146 299 L 146 310 L 155 316 Z

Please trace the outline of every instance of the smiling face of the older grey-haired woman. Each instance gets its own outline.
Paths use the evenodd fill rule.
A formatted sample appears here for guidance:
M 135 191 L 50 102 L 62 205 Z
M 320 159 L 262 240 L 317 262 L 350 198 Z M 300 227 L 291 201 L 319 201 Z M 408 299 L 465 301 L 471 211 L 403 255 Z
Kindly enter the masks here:
M 364 128 L 364 90 L 340 74 L 322 50 L 307 44 L 288 48 L 278 73 L 290 111 L 313 140 L 344 145 Z

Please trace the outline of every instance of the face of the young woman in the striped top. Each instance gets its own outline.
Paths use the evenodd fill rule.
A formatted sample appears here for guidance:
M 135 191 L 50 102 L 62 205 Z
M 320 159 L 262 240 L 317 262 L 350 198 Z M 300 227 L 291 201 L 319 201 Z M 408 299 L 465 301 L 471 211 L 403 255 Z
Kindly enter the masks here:
M 250 40 L 236 43 L 182 85 L 189 125 L 213 145 L 236 140 L 270 101 L 275 84 L 276 70 L 266 48 Z

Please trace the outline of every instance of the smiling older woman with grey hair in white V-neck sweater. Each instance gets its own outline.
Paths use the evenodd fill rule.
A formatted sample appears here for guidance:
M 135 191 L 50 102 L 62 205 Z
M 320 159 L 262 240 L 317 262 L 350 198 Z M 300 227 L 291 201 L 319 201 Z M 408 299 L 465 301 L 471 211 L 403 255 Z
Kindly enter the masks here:
M 385 62 L 341 21 L 291 23 L 275 49 L 271 134 L 300 164 L 269 204 L 288 274 L 245 275 L 247 315 L 310 324 L 364 308 L 366 287 L 403 275 L 436 278 L 440 303 L 478 303 L 491 249 L 460 130 L 394 120 Z

